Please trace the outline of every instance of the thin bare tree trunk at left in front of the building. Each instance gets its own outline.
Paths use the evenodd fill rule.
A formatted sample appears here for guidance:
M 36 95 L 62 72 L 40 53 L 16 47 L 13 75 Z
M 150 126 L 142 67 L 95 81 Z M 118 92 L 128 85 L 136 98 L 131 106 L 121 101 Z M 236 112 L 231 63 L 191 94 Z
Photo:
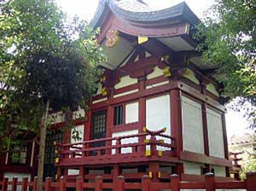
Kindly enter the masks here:
M 41 119 L 40 126 L 40 144 L 38 156 L 38 191 L 43 191 L 43 175 L 44 175 L 44 151 L 45 151 L 45 138 L 47 128 L 47 116 L 49 110 L 49 101 L 46 103 L 45 112 Z

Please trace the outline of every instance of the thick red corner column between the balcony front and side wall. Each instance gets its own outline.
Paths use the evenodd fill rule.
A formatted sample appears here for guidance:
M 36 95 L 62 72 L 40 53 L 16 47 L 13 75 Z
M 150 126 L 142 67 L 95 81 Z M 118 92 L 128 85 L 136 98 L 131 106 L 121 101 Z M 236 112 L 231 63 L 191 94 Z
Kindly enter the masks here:
M 176 156 L 180 158 L 183 152 L 183 124 L 182 124 L 182 105 L 181 90 L 171 90 L 171 134 L 176 143 Z M 184 172 L 183 164 L 177 164 L 176 173 L 180 175 Z

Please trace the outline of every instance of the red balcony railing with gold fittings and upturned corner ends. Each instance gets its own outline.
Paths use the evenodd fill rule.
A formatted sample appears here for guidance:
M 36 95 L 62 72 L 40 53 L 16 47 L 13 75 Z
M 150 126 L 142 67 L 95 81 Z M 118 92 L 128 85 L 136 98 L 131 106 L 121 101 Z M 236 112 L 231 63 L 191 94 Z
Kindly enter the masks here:
M 145 148 L 149 145 L 150 149 L 148 149 L 148 154 L 150 156 L 158 155 L 159 152 L 157 150 L 157 146 L 167 148 L 169 153 L 173 153 L 175 151 L 175 142 L 172 136 L 164 134 L 166 129 L 151 131 L 144 128 L 143 133 L 138 133 L 136 135 L 129 136 L 118 136 L 118 137 L 108 137 L 96 140 L 90 140 L 86 142 L 76 142 L 72 144 L 59 144 L 56 146 L 61 148 L 59 153 L 59 159 L 57 159 L 56 163 L 61 163 L 65 161 L 67 164 L 68 159 L 78 159 L 79 158 L 91 158 L 93 157 L 102 157 L 102 155 L 114 155 L 115 157 L 119 154 L 123 154 L 121 151 L 123 148 L 131 148 L 131 152 L 129 154 L 135 154 L 139 152 L 145 152 Z M 150 136 L 149 139 L 146 137 Z M 143 142 L 140 142 L 140 137 L 143 137 Z M 137 142 L 129 142 L 124 143 L 125 139 L 137 138 Z M 168 139 L 168 143 L 160 140 L 159 138 Z M 113 144 L 115 142 L 115 144 Z M 96 144 L 102 145 L 100 147 L 96 147 Z M 139 155 L 138 155 L 139 156 Z M 145 156 L 145 154 L 143 154 Z M 86 160 L 83 160 L 86 162 Z M 89 161 L 89 160 L 87 160 Z M 61 164 L 63 165 L 64 162 Z M 58 164 L 56 164 L 58 165 Z M 85 165 L 85 164 L 84 164 Z

